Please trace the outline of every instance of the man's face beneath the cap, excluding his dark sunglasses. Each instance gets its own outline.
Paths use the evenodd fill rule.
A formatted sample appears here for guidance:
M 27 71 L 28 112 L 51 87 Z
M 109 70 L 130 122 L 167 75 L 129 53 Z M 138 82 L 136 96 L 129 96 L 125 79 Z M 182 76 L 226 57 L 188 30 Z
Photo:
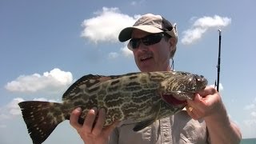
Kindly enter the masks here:
M 142 30 L 134 30 L 131 38 L 143 38 L 146 35 L 149 35 L 149 33 Z M 160 42 L 150 46 L 146 46 L 141 42 L 138 48 L 133 49 L 138 69 L 142 72 L 170 70 L 170 50 L 173 49 L 173 46 L 173 38 L 168 41 L 162 38 Z

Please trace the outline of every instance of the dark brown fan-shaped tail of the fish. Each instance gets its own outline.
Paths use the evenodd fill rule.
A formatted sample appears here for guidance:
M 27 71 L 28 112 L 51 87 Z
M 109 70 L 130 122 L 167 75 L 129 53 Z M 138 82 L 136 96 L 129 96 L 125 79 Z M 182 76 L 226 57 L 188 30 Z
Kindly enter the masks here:
M 41 144 L 65 120 L 62 104 L 57 102 L 19 102 L 22 116 L 34 144 Z

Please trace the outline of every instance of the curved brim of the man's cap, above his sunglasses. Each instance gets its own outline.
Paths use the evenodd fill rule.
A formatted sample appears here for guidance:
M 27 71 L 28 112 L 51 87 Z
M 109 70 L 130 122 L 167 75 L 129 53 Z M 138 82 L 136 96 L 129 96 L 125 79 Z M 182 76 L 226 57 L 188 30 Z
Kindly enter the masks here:
M 147 26 L 147 25 L 126 27 L 125 29 L 123 29 L 120 32 L 120 34 L 118 36 L 119 41 L 120 42 L 126 42 L 128 39 L 130 39 L 131 38 L 131 33 L 133 32 L 134 29 L 143 30 L 143 31 L 146 31 L 146 32 L 152 33 L 152 34 L 163 32 L 163 30 L 160 30 L 157 27 Z

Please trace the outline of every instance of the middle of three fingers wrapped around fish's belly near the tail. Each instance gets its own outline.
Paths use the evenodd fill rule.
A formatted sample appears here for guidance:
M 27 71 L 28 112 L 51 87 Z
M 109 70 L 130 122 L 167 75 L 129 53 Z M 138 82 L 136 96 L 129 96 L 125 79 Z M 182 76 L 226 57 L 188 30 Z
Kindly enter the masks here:
M 82 130 L 85 133 L 91 133 L 91 130 L 93 129 L 94 121 L 95 121 L 97 114 L 98 114 L 98 109 L 96 107 L 89 110 L 88 114 L 86 115 L 85 122 L 82 126 Z

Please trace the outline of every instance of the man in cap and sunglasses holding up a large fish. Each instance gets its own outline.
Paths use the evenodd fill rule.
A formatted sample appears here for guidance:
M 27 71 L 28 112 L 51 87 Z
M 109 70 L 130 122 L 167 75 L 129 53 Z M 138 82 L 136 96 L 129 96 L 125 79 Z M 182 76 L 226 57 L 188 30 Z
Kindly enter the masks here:
M 171 70 L 170 58 L 174 57 L 178 41 L 176 26 L 160 15 L 146 14 L 134 26 L 123 29 L 119 40 L 130 39 L 128 48 L 142 72 Z M 226 113 L 217 90 L 206 86 L 188 100 L 186 110 L 154 122 L 145 129 L 134 132 L 133 122 L 115 122 L 102 128 L 105 110 L 93 108 L 82 125 L 78 124 L 81 109 L 74 110 L 70 124 L 86 143 L 239 143 L 241 133 Z M 96 119 L 96 115 L 98 118 Z M 96 120 L 95 120 L 96 119 Z M 94 121 L 96 122 L 95 126 Z M 117 126 L 118 125 L 118 126 Z

